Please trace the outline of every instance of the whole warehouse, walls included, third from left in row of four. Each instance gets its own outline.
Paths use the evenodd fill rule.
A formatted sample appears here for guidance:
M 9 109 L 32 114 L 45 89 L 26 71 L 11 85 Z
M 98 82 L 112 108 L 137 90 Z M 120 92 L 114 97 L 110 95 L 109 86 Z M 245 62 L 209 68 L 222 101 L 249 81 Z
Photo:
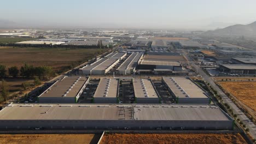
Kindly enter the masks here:
M 159 104 L 159 94 L 150 79 L 132 79 L 135 102 L 138 104 Z

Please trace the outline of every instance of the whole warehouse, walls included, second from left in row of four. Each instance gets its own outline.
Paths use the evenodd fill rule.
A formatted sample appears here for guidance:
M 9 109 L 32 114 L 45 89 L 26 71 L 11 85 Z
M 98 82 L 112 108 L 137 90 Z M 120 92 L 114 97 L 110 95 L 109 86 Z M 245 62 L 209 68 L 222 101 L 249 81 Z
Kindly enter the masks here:
M 101 79 L 94 94 L 94 103 L 117 103 L 118 92 L 118 79 Z

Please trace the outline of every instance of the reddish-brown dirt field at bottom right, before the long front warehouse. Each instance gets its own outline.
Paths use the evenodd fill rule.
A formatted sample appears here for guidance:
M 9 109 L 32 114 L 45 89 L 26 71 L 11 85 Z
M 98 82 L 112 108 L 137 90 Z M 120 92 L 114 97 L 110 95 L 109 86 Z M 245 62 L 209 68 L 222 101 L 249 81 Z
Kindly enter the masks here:
M 246 143 L 240 134 L 107 134 L 101 144 L 107 143 Z

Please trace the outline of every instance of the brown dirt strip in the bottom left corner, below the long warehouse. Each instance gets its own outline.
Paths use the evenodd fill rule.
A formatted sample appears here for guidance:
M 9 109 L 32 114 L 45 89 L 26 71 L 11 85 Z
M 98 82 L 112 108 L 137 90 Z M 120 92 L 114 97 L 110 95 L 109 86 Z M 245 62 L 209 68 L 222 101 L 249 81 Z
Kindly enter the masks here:
M 0 135 L 0 143 L 45 144 L 45 143 L 97 143 L 100 136 L 94 134 L 15 134 Z

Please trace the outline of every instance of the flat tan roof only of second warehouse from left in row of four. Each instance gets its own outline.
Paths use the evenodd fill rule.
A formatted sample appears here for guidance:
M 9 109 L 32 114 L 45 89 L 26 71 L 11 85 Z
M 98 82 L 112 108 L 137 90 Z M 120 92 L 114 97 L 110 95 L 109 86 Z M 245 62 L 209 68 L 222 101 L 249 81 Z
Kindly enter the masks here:
M 118 79 L 101 79 L 94 98 L 117 98 Z

